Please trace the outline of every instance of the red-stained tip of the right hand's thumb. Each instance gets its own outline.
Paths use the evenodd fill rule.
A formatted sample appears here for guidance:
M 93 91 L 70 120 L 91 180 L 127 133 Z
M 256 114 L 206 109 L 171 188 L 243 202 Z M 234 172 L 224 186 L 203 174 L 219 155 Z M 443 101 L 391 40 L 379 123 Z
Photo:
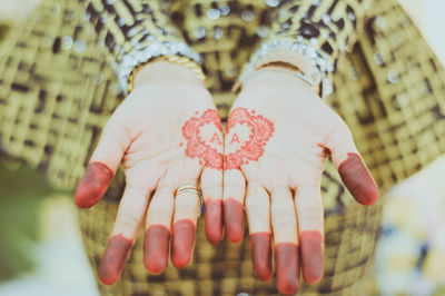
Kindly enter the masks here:
M 377 185 L 357 154 L 348 154 L 338 167 L 338 172 L 343 184 L 358 203 L 370 206 L 377 201 Z

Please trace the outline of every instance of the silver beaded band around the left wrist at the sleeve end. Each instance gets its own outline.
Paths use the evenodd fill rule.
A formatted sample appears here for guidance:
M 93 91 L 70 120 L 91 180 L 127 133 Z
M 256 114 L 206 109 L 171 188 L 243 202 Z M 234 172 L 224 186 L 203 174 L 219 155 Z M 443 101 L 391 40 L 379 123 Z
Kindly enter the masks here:
M 137 66 L 162 56 L 182 56 L 199 65 L 201 63 L 199 53 L 195 52 L 185 42 L 154 41 L 141 49 L 135 47 L 130 52 L 123 55 L 120 62 L 111 62 L 111 67 L 115 69 L 119 82 L 120 91 L 128 95 L 128 78 Z

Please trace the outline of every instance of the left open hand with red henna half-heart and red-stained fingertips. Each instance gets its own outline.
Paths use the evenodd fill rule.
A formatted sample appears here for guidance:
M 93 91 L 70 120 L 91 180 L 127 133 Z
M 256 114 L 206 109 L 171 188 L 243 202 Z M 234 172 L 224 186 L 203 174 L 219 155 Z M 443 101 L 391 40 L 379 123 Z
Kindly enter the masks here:
M 157 61 L 137 73 L 135 90 L 107 122 L 76 193 L 79 207 L 93 206 L 122 162 L 126 188 L 99 267 L 103 284 L 118 279 L 145 217 L 148 270 L 166 267 L 170 234 L 172 264 L 189 263 L 200 199 L 190 189 L 176 195 L 182 186 L 200 182 L 208 238 L 222 238 L 221 152 L 220 119 L 191 70 Z

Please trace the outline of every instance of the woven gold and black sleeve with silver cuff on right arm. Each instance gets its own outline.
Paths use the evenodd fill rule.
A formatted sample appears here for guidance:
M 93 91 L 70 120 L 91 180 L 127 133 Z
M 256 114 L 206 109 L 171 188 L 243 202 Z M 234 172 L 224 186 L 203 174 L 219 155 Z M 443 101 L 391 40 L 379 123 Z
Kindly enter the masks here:
M 310 61 L 313 72 L 309 77 L 319 81 L 322 97 L 330 95 L 333 87 L 329 77 L 336 70 L 339 55 L 354 45 L 356 36 L 363 29 L 369 1 L 284 0 L 275 2 L 277 2 L 277 8 L 271 34 L 253 55 L 244 72 L 271 52 L 291 51 Z M 240 81 L 243 82 L 243 76 Z

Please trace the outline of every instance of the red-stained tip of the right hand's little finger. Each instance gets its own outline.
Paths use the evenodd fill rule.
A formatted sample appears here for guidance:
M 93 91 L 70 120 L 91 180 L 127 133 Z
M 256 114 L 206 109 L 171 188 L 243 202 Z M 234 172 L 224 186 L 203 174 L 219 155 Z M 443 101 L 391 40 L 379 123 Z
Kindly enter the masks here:
M 240 201 L 233 197 L 224 201 L 224 221 L 229 240 L 235 244 L 241 241 L 244 236 L 244 209 Z

